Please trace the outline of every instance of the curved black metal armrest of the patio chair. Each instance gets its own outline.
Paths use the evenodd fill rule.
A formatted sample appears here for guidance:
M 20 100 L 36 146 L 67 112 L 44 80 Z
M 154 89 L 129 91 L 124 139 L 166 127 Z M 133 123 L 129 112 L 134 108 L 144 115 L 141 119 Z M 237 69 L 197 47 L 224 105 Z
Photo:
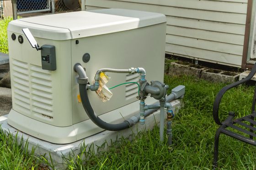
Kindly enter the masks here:
M 222 125 L 222 123 L 219 120 L 219 104 L 220 104 L 221 98 L 223 97 L 224 93 L 226 91 L 228 91 L 230 88 L 234 88 L 244 82 L 251 80 L 251 78 L 255 75 L 255 73 L 256 73 L 256 63 L 252 67 L 251 72 L 247 77 L 245 77 L 244 79 L 239 80 L 237 82 L 234 82 L 232 84 L 229 84 L 219 91 L 219 93 L 217 94 L 215 101 L 213 103 L 213 119 L 216 122 L 216 124 Z

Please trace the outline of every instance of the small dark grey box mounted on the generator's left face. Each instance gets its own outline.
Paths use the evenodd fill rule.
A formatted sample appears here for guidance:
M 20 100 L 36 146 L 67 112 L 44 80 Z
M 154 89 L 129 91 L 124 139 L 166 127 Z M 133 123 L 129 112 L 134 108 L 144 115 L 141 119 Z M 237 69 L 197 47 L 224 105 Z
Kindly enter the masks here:
M 56 70 L 55 46 L 43 45 L 41 50 L 43 70 Z

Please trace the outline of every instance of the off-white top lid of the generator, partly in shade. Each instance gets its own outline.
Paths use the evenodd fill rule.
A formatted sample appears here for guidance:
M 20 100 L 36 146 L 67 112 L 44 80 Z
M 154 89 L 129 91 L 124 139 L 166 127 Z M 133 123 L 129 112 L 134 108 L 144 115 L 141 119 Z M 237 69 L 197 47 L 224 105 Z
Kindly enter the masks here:
M 103 9 L 22 18 L 11 21 L 7 30 L 22 34 L 22 28 L 29 28 L 35 37 L 69 40 L 126 31 L 163 22 L 166 22 L 165 15 L 159 13 Z

